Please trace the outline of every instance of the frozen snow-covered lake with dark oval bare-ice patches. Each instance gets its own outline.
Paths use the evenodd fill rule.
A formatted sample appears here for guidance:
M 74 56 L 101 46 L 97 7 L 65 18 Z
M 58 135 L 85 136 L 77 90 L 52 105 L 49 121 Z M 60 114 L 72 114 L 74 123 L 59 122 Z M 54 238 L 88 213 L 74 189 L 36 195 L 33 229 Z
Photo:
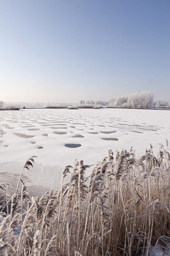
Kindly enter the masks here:
M 30 156 L 37 156 L 31 172 L 22 180 L 30 195 L 39 196 L 60 186 L 65 165 L 83 159 L 95 164 L 108 150 L 145 153 L 170 141 L 170 111 L 140 109 L 20 109 L 0 111 L 1 180 L 17 186 L 19 173 Z M 89 170 L 89 174 L 90 174 Z M 11 193 L 14 192 L 11 189 Z

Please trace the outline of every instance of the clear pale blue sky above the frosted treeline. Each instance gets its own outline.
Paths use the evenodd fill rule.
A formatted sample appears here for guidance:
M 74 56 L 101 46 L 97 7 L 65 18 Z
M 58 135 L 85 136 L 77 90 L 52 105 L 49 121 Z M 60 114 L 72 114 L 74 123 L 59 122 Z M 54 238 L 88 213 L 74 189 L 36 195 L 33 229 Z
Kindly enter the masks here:
M 170 101 L 170 0 L 0 0 L 0 100 Z

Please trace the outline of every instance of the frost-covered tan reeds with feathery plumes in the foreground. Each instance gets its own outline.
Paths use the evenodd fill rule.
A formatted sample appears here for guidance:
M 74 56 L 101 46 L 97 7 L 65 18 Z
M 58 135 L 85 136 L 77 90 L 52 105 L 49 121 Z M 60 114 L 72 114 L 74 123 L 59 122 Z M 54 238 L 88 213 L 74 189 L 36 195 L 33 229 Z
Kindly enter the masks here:
M 22 181 L 8 199 L 9 184 L 1 183 L 0 255 L 148 256 L 157 244 L 169 252 L 168 142 L 159 147 L 138 159 L 132 148 L 109 150 L 90 177 L 89 165 L 76 160 L 63 170 L 61 189 L 41 198 L 30 199 Z M 32 164 L 33 157 L 24 168 Z

